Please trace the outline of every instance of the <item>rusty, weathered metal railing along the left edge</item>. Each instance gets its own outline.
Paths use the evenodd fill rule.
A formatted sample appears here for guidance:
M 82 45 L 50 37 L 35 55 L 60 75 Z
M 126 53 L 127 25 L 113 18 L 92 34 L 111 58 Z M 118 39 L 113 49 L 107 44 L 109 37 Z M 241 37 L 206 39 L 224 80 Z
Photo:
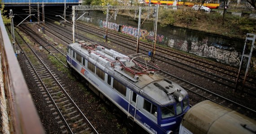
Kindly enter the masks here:
M 0 106 L 0 114 L 2 116 L 0 122 L 1 134 L 45 133 L 1 15 Z

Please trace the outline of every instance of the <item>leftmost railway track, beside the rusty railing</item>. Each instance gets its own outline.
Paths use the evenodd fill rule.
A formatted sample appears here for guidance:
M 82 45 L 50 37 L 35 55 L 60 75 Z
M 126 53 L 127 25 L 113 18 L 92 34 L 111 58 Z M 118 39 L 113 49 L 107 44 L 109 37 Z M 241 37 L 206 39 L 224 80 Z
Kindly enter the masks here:
M 22 38 L 20 34 L 18 35 L 19 38 Z M 44 95 L 46 103 L 49 104 L 52 114 L 55 115 L 62 133 L 98 134 L 84 113 L 68 95 L 65 85 L 51 71 L 49 65 L 44 63 L 44 60 L 23 38 L 22 42 L 18 46 L 26 56 L 25 62 L 31 68 L 34 79 L 38 81 L 37 85 L 40 92 Z

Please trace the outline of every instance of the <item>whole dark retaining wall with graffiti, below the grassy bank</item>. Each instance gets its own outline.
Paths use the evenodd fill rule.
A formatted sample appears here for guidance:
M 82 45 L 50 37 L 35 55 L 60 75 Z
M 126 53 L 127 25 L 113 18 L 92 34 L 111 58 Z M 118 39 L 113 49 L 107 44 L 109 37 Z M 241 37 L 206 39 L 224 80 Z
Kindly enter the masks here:
M 79 16 L 82 14 L 80 12 Z M 106 28 L 106 14 L 100 11 L 91 10 L 81 17 L 81 20 Z M 140 39 L 152 42 L 154 38 L 153 22 L 141 19 L 142 22 Z M 134 20 L 134 13 L 130 13 L 130 16 L 118 15 L 116 20 L 110 14 L 108 29 L 137 37 L 137 27 L 138 17 Z M 232 66 L 239 66 L 244 46 L 244 40 L 230 39 L 178 27 L 162 27 L 159 23 L 157 43 Z

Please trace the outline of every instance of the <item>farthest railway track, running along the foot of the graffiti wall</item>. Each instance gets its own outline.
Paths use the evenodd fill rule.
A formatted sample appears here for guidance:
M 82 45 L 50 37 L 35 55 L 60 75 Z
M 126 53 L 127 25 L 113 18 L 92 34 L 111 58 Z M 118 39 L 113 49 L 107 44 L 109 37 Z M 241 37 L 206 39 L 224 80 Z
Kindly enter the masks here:
M 104 29 L 101 29 L 98 27 L 92 27 L 91 25 L 86 25 L 84 23 L 83 24 L 78 23 L 77 28 L 79 28 L 79 30 L 83 30 L 83 31 L 88 31 L 89 29 L 93 29 L 93 32 L 95 34 L 100 33 L 99 34 L 100 37 L 101 37 L 101 35 L 105 34 Z M 88 30 L 84 30 L 84 29 L 88 29 Z M 114 38 L 111 38 L 111 40 L 115 40 L 116 42 L 120 42 L 120 40 L 121 40 L 121 42 L 133 44 L 133 46 L 134 46 L 134 44 L 137 44 L 136 38 L 127 37 L 125 35 L 122 35 L 122 34 L 119 34 L 116 32 L 109 31 L 108 36 L 114 37 Z M 140 44 L 140 46 L 143 47 L 142 50 L 146 49 L 147 52 L 152 50 L 151 43 L 140 42 L 139 44 Z M 218 74 L 218 75 L 220 75 L 222 77 L 226 77 L 232 81 L 235 81 L 237 78 L 237 75 L 238 75 L 237 68 L 228 67 L 228 66 L 224 67 L 223 65 L 221 65 L 219 63 L 207 62 L 207 61 L 204 61 L 199 58 L 195 58 L 192 56 L 188 56 L 186 54 L 178 53 L 176 50 L 171 50 L 166 47 L 156 46 L 156 49 L 157 49 L 157 53 L 168 55 L 169 57 L 172 57 L 172 59 L 169 59 L 169 60 L 176 61 L 176 62 L 183 63 L 183 64 L 189 64 L 190 66 L 196 67 L 196 68 L 202 68 L 202 70 L 204 70 L 204 71 L 208 71 L 209 73 Z M 136 50 L 136 49 L 132 49 L 132 50 Z M 159 54 L 158 54 L 158 56 L 159 56 Z M 253 82 L 250 79 L 255 79 L 255 78 L 252 76 L 248 76 L 248 80 L 247 80 L 247 84 L 251 84 L 252 87 L 254 87 L 255 82 Z

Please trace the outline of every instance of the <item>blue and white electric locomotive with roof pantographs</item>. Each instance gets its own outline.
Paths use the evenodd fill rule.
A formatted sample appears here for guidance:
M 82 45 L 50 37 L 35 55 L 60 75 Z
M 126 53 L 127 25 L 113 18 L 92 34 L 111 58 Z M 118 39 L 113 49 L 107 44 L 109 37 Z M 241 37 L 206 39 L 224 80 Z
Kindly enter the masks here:
M 158 70 L 149 69 L 149 59 L 141 53 L 126 56 L 95 42 L 80 41 L 68 45 L 66 60 L 93 92 L 110 100 L 137 126 L 152 134 L 177 132 L 190 108 L 188 93 L 157 75 Z

